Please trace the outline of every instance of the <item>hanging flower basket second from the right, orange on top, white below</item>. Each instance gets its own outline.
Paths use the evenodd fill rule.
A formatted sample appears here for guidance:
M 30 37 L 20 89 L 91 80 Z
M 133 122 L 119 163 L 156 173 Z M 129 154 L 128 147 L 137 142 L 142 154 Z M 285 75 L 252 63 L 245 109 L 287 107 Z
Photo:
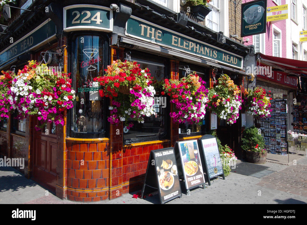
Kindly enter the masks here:
M 239 118 L 241 109 L 240 89 L 226 74 L 218 79 L 218 84 L 208 92 L 208 108 L 227 124 L 233 124 Z

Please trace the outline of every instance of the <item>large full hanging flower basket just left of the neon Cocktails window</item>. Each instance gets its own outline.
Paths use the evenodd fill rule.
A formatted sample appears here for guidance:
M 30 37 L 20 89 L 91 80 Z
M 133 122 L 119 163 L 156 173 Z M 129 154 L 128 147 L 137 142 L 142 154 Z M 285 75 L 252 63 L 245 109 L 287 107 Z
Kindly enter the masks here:
M 46 64 L 29 61 L 16 77 L 8 90 L 12 109 L 17 110 L 17 118 L 37 115 L 41 125 L 55 122 L 64 126 L 63 112 L 73 107 L 75 91 L 71 88 L 70 74 L 50 70 Z

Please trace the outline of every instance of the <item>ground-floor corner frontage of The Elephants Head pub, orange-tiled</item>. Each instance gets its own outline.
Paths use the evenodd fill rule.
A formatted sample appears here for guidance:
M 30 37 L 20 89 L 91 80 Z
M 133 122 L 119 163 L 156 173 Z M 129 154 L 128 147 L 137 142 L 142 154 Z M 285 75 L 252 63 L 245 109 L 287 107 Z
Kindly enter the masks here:
M 217 35 L 202 35 L 210 30 L 195 21 L 189 20 L 188 25 L 201 32 L 165 19 L 161 15 L 172 12 L 155 4 L 150 5 L 151 11 L 119 1 L 117 12 L 110 4 L 97 5 L 97 1 L 58 3 L 52 5 L 55 13 L 45 14 L 43 7 L 39 16 L 34 17 L 33 12 L 21 15 L 20 20 L 29 18 L 25 26 L 36 27 L 16 38 L 14 45 L 1 49 L 0 67 L 6 71 L 14 66 L 18 71 L 32 59 L 59 66 L 71 73 L 76 91 L 74 107 L 66 112 L 64 126 L 52 123 L 39 131 L 34 129 L 37 117 L 15 120 L 12 112 L 1 123 L 0 154 L 24 157 L 26 165 L 21 172 L 60 198 L 114 199 L 140 189 L 150 151 L 174 146 L 179 140 L 200 138 L 210 129 L 210 113 L 199 124 L 173 123 L 169 117 L 170 99 L 161 95 L 162 81 L 180 79 L 195 71 L 206 81 L 207 88 L 222 73 L 242 86 L 246 74 L 241 70 L 248 49 L 231 39 L 226 39 L 226 44 L 217 43 Z M 18 31 L 17 22 L 13 25 L 10 30 Z M 28 39 L 30 44 L 24 45 Z M 8 41 L 8 37 L 4 39 L 4 43 Z M 235 50 L 230 44 L 241 49 Z M 16 54 L 10 54 L 15 48 Z M 156 82 L 155 114 L 143 123 L 133 121 L 131 129 L 110 125 L 107 117 L 112 103 L 99 96 L 99 84 L 94 81 L 117 59 L 136 61 L 141 68 L 149 68 Z M 223 121 L 218 125 L 225 137 L 232 138 L 232 146 L 237 146 L 235 137 L 239 137 L 241 121 L 235 126 Z M 50 132 L 46 133 L 46 129 Z

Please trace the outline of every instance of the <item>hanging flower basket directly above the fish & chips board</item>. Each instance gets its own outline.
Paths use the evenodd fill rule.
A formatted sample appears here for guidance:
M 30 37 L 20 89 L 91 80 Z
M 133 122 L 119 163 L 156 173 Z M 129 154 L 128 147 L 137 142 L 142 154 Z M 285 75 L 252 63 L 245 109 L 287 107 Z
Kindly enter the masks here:
M 170 113 L 173 122 L 198 124 L 206 113 L 206 102 L 208 100 L 208 89 L 205 82 L 196 74 L 177 80 L 165 79 L 162 95 L 169 95 L 174 111 Z

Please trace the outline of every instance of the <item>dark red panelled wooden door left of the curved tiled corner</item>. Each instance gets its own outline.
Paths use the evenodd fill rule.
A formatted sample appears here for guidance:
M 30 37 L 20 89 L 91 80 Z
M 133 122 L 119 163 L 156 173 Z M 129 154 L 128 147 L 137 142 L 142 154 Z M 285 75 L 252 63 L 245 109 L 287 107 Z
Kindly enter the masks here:
M 34 119 L 34 124 L 39 124 Z M 45 128 L 36 131 L 33 137 L 33 180 L 52 192 L 56 190 L 56 129 L 55 124 L 47 123 Z

